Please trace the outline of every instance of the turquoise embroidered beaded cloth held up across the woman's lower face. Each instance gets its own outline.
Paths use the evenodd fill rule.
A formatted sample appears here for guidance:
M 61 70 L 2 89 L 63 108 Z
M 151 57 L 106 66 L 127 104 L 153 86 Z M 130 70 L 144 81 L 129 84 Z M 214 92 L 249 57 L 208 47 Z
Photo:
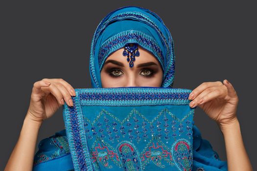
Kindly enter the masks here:
M 75 170 L 192 170 L 191 90 L 76 88 L 63 106 Z

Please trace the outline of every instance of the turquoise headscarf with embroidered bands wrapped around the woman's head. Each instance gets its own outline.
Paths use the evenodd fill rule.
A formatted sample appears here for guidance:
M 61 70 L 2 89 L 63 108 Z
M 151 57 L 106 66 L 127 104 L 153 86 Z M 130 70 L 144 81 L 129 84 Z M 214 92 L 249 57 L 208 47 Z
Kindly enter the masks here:
M 125 6 L 109 13 L 94 32 L 89 67 L 94 88 L 102 87 L 100 72 L 105 60 L 126 43 L 137 43 L 150 51 L 164 71 L 161 86 L 172 87 L 175 53 L 168 28 L 162 19 L 150 10 Z

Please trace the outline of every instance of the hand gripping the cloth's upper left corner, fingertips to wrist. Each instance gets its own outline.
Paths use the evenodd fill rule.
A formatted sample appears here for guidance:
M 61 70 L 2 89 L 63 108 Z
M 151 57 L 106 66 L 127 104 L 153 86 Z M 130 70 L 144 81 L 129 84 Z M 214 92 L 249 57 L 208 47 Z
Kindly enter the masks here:
M 26 118 L 41 124 L 64 105 L 64 101 L 73 106 L 71 96 L 75 95 L 74 88 L 63 79 L 44 78 L 35 82 Z

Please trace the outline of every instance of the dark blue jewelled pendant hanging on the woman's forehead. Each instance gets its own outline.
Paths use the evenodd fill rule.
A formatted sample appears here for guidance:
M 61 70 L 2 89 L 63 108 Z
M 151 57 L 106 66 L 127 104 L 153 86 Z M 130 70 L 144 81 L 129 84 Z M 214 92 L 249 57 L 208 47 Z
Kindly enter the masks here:
M 123 56 L 127 56 L 127 61 L 129 62 L 129 67 L 134 66 L 135 57 L 139 57 L 139 48 L 137 43 L 127 43 L 124 46 Z M 130 55 L 130 56 L 129 56 Z M 130 57 L 130 59 L 129 59 Z

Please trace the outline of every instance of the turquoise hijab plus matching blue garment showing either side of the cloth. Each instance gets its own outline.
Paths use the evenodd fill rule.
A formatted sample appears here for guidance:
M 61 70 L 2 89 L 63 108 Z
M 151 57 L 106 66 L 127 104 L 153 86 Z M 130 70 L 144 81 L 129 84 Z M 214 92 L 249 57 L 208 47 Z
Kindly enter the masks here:
M 154 12 L 125 6 L 109 13 L 97 26 L 91 44 L 90 76 L 93 88 L 100 88 L 100 71 L 108 56 L 127 43 L 138 43 L 151 52 L 163 68 L 162 87 L 172 87 L 175 71 L 174 43 L 168 28 Z M 34 157 L 34 171 L 73 170 L 66 131 L 40 141 Z M 210 142 L 202 139 L 193 125 L 193 171 L 227 171 Z

